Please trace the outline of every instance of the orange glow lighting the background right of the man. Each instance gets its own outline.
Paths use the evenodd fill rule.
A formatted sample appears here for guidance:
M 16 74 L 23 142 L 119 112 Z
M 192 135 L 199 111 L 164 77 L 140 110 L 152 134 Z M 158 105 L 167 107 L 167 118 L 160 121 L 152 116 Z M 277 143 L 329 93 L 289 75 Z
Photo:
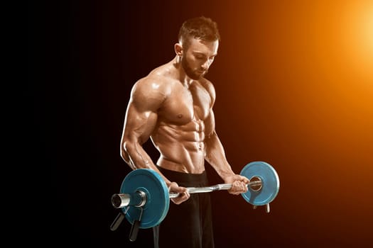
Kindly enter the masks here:
M 227 157 L 236 171 L 256 160 L 276 168 L 281 188 L 268 221 L 283 230 L 296 227 L 291 235 L 310 247 L 369 238 L 372 6 L 247 1 L 225 9 L 229 20 L 220 23 L 222 43 L 211 79 Z M 246 206 L 238 208 L 256 221 Z M 278 235 L 281 240 L 286 233 Z

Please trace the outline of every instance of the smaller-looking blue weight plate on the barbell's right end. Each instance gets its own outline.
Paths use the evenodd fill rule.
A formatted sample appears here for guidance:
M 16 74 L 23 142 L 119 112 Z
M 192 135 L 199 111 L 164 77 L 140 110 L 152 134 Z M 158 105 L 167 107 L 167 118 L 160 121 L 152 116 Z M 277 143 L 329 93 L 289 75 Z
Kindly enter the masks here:
M 242 169 L 240 174 L 248 179 L 253 176 L 261 179 L 261 189 L 259 191 L 254 191 L 249 187 L 249 191 L 242 193 L 242 197 L 252 205 L 266 205 L 273 201 L 279 193 L 279 176 L 274 167 L 266 162 L 251 162 Z

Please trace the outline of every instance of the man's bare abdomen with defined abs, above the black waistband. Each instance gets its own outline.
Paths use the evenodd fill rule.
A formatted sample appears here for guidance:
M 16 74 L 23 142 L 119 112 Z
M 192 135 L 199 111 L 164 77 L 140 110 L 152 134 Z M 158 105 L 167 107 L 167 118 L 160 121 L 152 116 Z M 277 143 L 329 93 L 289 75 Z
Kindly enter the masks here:
M 205 133 L 201 121 L 186 125 L 158 125 L 152 135 L 153 144 L 161 156 L 157 165 L 164 169 L 190 174 L 205 171 Z

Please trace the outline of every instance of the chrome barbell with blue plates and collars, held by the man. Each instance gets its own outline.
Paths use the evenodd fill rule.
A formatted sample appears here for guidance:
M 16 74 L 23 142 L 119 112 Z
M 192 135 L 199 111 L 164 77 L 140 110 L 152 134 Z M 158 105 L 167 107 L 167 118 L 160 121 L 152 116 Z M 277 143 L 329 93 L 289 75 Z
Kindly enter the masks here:
M 250 179 L 248 191 L 242 197 L 254 208 L 266 205 L 269 213 L 269 203 L 279 193 L 280 181 L 276 170 L 266 162 L 251 162 L 240 172 Z M 217 184 L 207 187 L 189 187 L 189 193 L 206 193 L 212 191 L 229 190 L 232 184 Z M 170 198 L 178 197 L 178 193 L 169 193 L 166 182 L 151 169 L 136 169 L 126 175 L 121 183 L 120 193 L 112 196 L 114 208 L 121 208 L 121 213 L 110 226 L 117 227 L 124 219 L 132 224 L 129 239 L 136 240 L 139 228 L 150 228 L 159 225 L 168 213 Z

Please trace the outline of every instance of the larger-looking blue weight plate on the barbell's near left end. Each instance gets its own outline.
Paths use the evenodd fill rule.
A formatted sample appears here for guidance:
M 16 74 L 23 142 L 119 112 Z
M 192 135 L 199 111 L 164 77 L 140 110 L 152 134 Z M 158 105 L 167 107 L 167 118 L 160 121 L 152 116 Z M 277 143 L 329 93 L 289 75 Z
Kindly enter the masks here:
M 124 178 L 121 184 L 121 193 L 134 193 L 144 191 L 146 203 L 142 207 L 143 213 L 140 220 L 140 228 L 149 228 L 159 225 L 168 213 L 170 198 L 168 188 L 162 177 L 151 169 L 136 169 L 131 171 Z M 126 207 L 122 208 L 125 212 Z M 133 224 L 139 220 L 140 208 L 129 207 L 126 212 L 126 219 Z

